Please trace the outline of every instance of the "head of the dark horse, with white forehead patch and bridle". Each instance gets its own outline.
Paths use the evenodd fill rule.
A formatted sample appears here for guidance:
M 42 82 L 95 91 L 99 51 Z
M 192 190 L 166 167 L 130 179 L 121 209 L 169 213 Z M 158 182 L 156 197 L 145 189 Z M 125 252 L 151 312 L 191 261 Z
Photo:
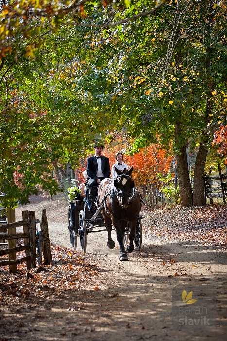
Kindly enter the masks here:
M 132 178 L 133 166 L 129 170 L 126 168 L 121 172 L 121 170 L 114 167 L 118 176 L 114 180 L 114 186 L 118 192 L 118 201 L 122 208 L 127 208 L 129 205 L 130 194 L 132 188 L 134 187 L 134 181 Z

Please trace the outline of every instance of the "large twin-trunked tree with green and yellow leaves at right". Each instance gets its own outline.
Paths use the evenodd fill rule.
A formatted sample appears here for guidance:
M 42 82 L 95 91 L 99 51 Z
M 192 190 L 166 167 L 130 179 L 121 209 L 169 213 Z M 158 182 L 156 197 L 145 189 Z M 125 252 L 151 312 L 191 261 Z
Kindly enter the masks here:
M 171 139 L 175 141 L 184 206 L 192 201 L 203 205 L 206 200 L 203 176 L 208 124 L 222 108 L 218 102 L 214 108 L 214 94 L 226 89 L 225 9 L 224 2 L 177 1 L 168 11 L 164 6 L 144 22 L 122 25 L 121 33 L 111 31 L 110 36 L 110 30 L 102 31 L 94 45 L 100 46 L 102 39 L 111 40 L 111 51 L 105 43 L 105 54 L 109 51 L 110 55 L 99 55 L 95 63 L 92 59 L 87 84 L 83 80 L 87 90 L 91 80 L 96 80 L 92 101 L 100 111 L 108 108 L 108 112 L 115 113 L 119 126 L 127 126 L 135 138 L 135 150 L 155 141 L 157 132 L 167 146 Z M 102 102 L 97 103 L 100 93 L 104 94 Z M 189 141 L 191 148 L 199 146 L 193 193 L 186 157 Z

